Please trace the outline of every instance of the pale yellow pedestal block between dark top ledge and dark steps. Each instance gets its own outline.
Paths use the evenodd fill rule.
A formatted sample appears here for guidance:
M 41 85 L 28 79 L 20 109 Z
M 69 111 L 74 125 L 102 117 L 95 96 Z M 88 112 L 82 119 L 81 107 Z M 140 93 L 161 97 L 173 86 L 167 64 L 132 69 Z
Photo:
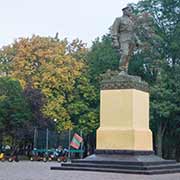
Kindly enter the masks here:
M 101 90 L 96 149 L 152 151 L 149 93 L 135 89 Z

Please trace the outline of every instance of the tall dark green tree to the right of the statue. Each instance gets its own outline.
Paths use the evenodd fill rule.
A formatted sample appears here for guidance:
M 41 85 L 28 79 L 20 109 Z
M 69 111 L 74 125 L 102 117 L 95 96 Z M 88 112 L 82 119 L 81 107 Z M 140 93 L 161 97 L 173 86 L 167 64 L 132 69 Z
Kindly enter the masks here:
M 146 39 L 150 45 L 136 52 L 130 65 L 131 74 L 139 74 L 150 84 L 151 128 L 156 138 L 156 150 L 162 156 L 163 140 L 174 136 L 179 114 L 179 41 L 180 2 L 176 0 L 144 0 L 134 5 L 137 13 L 149 12 L 153 18 L 154 36 Z M 178 126 L 177 126 L 178 125 Z M 172 129 L 169 129 L 172 128 Z M 169 132 L 172 133 L 169 133 Z M 169 141 L 171 141 L 169 137 Z M 164 145 L 164 147 L 167 147 Z M 169 146 L 170 147 L 170 146 Z M 172 151 L 171 146 L 171 150 Z M 167 149 L 167 148 L 165 148 Z M 170 153 L 170 152 L 168 152 Z M 165 153 L 164 153 L 165 154 Z

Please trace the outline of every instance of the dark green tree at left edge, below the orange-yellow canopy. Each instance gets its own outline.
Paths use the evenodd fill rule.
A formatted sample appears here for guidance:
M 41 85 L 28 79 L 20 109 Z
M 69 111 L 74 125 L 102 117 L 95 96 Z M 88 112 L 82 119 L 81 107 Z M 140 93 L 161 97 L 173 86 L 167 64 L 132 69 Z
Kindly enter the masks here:
M 23 89 L 18 80 L 0 77 L 0 131 L 1 136 L 15 137 L 19 128 L 26 127 L 32 118 Z

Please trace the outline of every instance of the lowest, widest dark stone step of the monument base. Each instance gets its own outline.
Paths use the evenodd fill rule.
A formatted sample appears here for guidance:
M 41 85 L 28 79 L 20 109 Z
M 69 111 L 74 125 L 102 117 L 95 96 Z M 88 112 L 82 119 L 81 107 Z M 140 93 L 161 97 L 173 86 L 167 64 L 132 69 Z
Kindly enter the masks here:
M 112 173 L 128 173 L 128 174 L 168 174 L 178 173 L 180 168 L 175 169 L 158 169 L 158 170 L 133 170 L 133 169 L 113 169 L 113 168 L 97 168 L 97 167 L 72 167 L 59 166 L 51 167 L 51 170 L 71 170 L 71 171 L 95 171 L 95 172 L 112 172 Z

